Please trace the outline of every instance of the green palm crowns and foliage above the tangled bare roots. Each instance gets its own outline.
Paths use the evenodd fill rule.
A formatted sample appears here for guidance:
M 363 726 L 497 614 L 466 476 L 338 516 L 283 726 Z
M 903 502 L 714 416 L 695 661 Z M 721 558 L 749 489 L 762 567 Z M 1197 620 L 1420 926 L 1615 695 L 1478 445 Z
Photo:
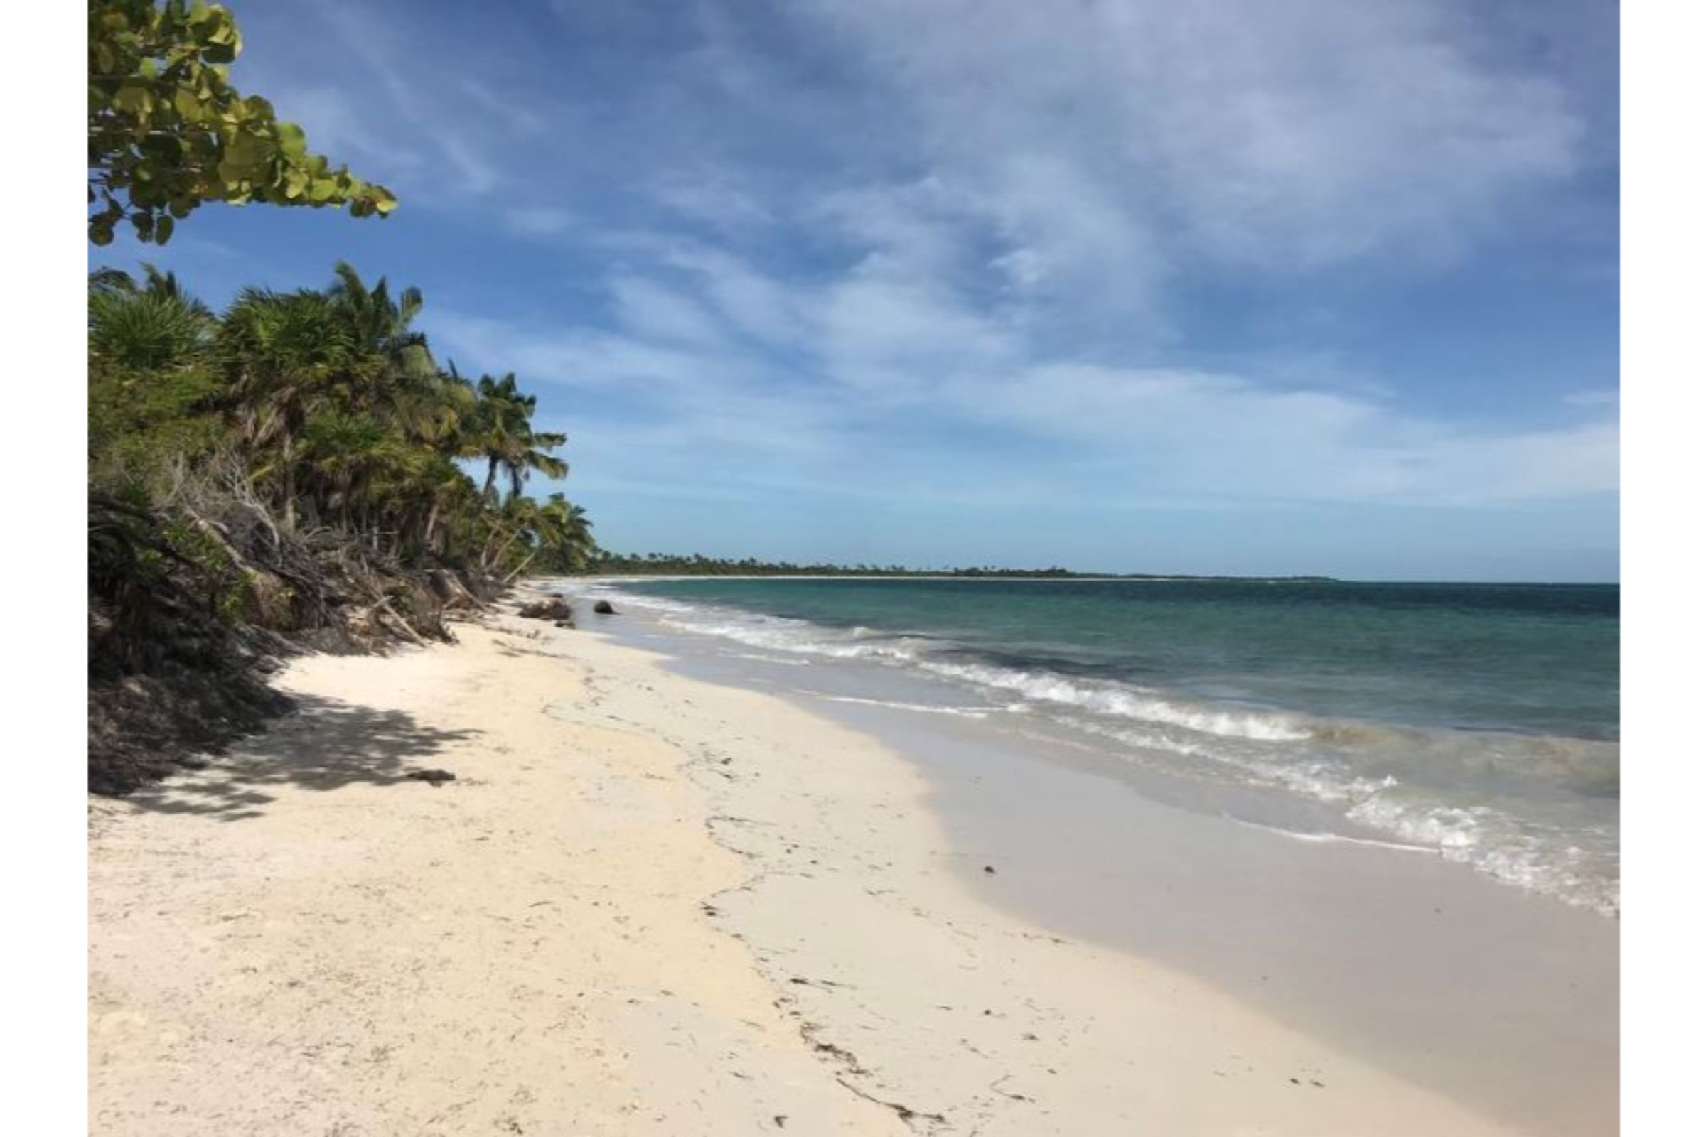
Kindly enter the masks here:
M 246 288 L 223 314 L 152 268 L 90 274 L 90 488 L 165 503 L 217 479 L 281 535 L 334 530 L 403 566 L 582 568 L 582 510 L 524 494 L 529 474 L 568 472 L 565 438 L 534 428 L 514 375 L 438 366 L 420 309 L 348 264 L 324 290 Z

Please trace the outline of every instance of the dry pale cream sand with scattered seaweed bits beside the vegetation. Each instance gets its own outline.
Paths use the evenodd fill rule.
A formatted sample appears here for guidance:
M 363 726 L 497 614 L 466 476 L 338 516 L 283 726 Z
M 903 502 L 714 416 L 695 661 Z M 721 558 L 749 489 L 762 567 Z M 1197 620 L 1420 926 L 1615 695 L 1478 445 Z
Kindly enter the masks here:
M 299 660 L 299 714 L 90 806 L 92 1132 L 1506 1132 L 991 907 L 865 735 L 459 638 Z

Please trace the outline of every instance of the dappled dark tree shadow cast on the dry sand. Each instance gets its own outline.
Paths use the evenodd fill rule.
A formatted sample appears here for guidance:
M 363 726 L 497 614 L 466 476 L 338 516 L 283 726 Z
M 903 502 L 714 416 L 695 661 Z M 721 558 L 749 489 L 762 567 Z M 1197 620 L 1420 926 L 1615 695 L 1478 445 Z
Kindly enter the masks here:
M 339 699 L 297 695 L 295 702 L 297 709 L 264 735 L 210 759 L 205 769 L 125 794 L 125 801 L 157 813 L 196 813 L 241 822 L 264 813 L 273 801 L 268 793 L 273 786 L 420 786 L 420 776 L 430 772 L 421 765 L 425 759 L 479 735 L 474 730 L 421 726 L 403 711 L 382 711 Z

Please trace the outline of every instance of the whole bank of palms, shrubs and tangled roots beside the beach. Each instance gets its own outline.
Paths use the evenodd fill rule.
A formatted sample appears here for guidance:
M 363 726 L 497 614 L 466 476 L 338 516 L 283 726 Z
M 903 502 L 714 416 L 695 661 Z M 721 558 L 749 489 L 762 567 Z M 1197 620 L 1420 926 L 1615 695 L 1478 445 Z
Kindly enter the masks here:
M 348 264 L 223 312 L 171 273 L 90 274 L 92 762 L 133 764 L 138 716 L 188 740 L 186 714 L 252 718 L 278 651 L 444 638 L 449 609 L 587 566 L 580 506 L 525 493 L 565 438 L 514 375 L 440 366 L 420 310 Z

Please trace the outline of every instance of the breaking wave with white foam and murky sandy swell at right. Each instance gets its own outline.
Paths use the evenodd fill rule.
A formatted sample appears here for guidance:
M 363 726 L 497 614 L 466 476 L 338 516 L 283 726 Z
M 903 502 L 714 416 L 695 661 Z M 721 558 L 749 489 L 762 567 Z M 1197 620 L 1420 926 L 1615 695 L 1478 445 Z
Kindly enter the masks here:
M 739 644 L 764 663 L 858 660 L 947 682 L 976 704 L 923 704 L 805 692 L 836 702 L 988 718 L 1020 711 L 1097 748 L 1150 767 L 1268 786 L 1339 806 L 1375 837 L 1293 834 L 1300 840 L 1396 844 L 1469 864 L 1494 880 L 1616 915 L 1617 837 L 1610 828 L 1547 817 L 1559 796 L 1616 796 L 1617 747 L 1578 738 L 1501 735 L 1324 719 L 1215 704 L 1037 661 L 1020 665 L 966 644 L 833 627 L 713 603 L 592 585 L 676 632 Z M 1539 805 L 1537 805 L 1539 803 Z M 1387 840 L 1389 839 L 1389 840 Z

